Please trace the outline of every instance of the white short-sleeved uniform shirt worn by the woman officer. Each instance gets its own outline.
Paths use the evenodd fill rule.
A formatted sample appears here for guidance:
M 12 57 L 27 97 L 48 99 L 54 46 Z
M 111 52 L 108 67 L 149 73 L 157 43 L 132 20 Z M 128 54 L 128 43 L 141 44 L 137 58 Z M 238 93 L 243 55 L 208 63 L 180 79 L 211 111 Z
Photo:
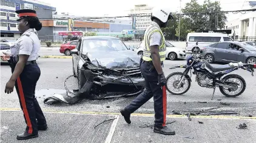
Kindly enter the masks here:
M 18 55 L 29 55 L 27 61 L 38 59 L 40 41 L 33 28 L 25 31 L 12 47 L 12 56 L 16 59 Z

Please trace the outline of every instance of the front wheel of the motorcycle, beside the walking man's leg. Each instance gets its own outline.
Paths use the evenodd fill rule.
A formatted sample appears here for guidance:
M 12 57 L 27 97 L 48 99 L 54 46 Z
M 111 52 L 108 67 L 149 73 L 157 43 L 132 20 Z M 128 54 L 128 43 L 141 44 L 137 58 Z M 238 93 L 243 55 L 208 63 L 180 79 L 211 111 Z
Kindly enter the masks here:
M 180 83 L 181 79 L 183 78 L 183 73 L 181 72 L 175 72 L 171 73 L 167 76 L 167 83 L 166 88 L 169 93 L 172 95 L 183 95 L 186 93 L 190 88 L 190 79 L 187 79 L 186 77 L 181 82 L 180 87 L 178 87 L 178 84 Z

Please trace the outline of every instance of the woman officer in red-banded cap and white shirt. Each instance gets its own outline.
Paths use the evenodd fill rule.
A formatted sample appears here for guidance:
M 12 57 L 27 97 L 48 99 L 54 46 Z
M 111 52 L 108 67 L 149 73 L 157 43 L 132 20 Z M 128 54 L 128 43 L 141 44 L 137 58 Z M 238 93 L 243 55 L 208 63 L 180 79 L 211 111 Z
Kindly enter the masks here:
M 27 124 L 25 132 L 18 135 L 17 139 L 24 140 L 37 138 L 38 130 L 47 129 L 44 114 L 35 98 L 36 82 L 41 71 L 36 64 L 40 42 L 34 28 L 41 30 L 42 24 L 35 10 L 17 10 L 16 13 L 19 16 L 18 29 L 23 34 L 11 48 L 12 55 L 8 62 L 12 68 L 12 76 L 5 86 L 5 93 L 12 93 L 15 86 Z

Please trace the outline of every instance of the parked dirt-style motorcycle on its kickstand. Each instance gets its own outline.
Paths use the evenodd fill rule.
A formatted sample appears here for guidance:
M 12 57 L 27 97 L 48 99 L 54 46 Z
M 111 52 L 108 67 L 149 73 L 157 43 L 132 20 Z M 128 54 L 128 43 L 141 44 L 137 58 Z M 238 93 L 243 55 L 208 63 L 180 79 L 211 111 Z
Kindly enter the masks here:
M 172 95 L 183 95 L 191 84 L 192 73 L 196 75 L 195 81 L 201 87 L 215 88 L 219 87 L 221 93 L 227 97 L 236 97 L 243 93 L 246 88 L 246 82 L 240 75 L 227 75 L 238 68 L 248 70 L 254 76 L 255 64 L 229 63 L 226 65 L 211 65 L 204 57 L 200 55 L 202 50 L 194 50 L 193 54 L 187 57 L 187 64 L 172 67 L 185 68 L 185 71 L 171 73 L 167 76 L 167 91 Z M 192 71 L 194 70 L 194 71 Z M 188 75 L 190 71 L 190 76 Z M 192 72 L 192 73 L 191 73 Z M 226 75 L 226 76 L 224 76 Z M 224 77 L 223 77 L 224 76 Z M 212 99 L 214 98 L 212 94 Z

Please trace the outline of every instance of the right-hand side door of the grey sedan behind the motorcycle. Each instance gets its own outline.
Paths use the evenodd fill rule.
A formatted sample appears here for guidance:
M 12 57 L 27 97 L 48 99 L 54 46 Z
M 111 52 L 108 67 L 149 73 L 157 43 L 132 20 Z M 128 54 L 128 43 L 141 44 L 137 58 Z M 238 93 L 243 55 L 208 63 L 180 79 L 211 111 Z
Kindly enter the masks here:
M 226 59 L 229 62 L 237 62 L 238 59 L 243 59 L 244 53 L 239 51 L 238 49 L 241 48 L 239 45 L 230 43 L 229 47 L 227 48 Z

